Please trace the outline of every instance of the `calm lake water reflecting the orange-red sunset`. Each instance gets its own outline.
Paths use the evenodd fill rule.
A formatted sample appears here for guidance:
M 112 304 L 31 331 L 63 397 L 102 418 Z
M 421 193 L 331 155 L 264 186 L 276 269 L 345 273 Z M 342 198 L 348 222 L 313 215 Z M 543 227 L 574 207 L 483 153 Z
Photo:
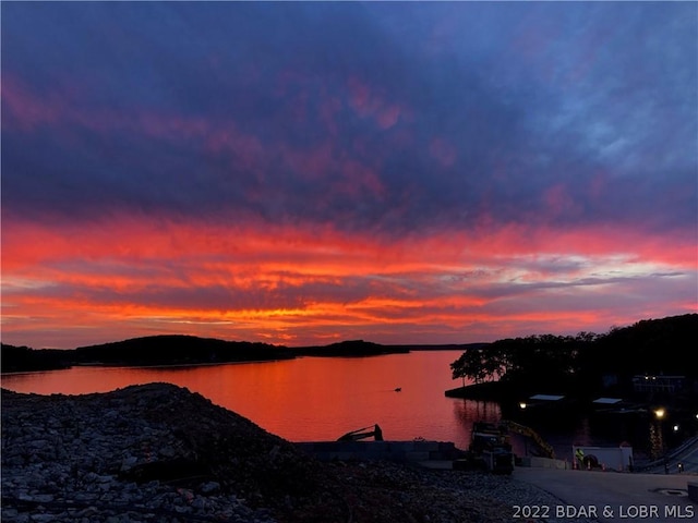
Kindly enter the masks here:
M 460 354 L 412 351 L 167 368 L 79 366 L 4 375 L 1 385 L 16 392 L 84 394 L 165 381 L 198 392 L 290 441 L 335 440 L 378 424 L 385 439 L 453 441 L 467 449 L 472 423 L 496 422 L 501 411 L 497 403 L 444 396 L 461 385 L 450 378 L 449 368 Z M 573 442 L 600 442 L 583 419 L 542 435 L 559 458 L 571 453 Z M 514 451 L 522 454 L 524 442 L 514 440 Z

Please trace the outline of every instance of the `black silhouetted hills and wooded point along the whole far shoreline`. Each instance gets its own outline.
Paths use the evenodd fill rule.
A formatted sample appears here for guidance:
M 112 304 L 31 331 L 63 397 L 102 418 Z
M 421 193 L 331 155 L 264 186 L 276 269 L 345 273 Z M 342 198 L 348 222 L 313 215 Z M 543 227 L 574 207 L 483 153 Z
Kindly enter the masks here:
M 164 335 L 133 338 L 71 350 L 1 345 L 2 373 L 69 368 L 75 365 L 167 366 L 288 360 L 300 356 L 373 356 L 411 350 L 462 350 L 452 365 L 454 379 L 477 382 L 482 389 L 500 382 L 521 389 L 545 382 L 549 389 L 593 389 L 607 376 L 642 373 L 689 374 L 696 352 L 698 314 L 646 319 L 628 327 L 613 327 L 597 335 L 538 335 L 501 339 L 492 343 L 450 345 L 388 345 L 348 340 L 327 345 L 288 348 L 261 342 L 227 341 L 194 336 Z M 465 385 L 465 382 L 464 382 Z M 538 386 L 538 385 L 537 385 Z M 457 389 L 455 389 L 457 390 Z M 470 388 L 469 394 L 477 394 Z M 490 396 L 491 392 L 488 392 Z

